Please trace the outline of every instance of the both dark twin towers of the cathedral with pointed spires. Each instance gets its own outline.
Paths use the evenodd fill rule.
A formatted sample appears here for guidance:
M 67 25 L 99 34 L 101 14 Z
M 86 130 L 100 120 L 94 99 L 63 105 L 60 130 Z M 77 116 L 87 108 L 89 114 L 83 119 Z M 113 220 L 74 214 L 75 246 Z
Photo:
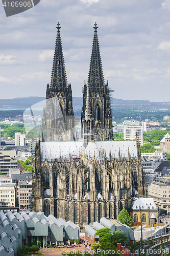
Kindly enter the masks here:
M 67 86 L 64 56 L 60 36 L 60 24 L 57 25 L 56 45 L 53 60 L 51 84 L 46 87 L 46 108 L 43 113 L 44 140 L 74 139 L 74 111 L 72 108 L 71 85 Z M 82 136 L 90 131 L 96 140 L 109 140 L 112 137 L 112 116 L 108 84 L 104 83 L 97 24 L 94 24 L 94 36 L 91 51 L 88 86 L 84 85 L 82 109 Z M 56 99 L 54 100 L 54 98 Z M 53 99 L 53 100 L 52 100 Z M 50 100 L 50 101 L 49 101 Z M 61 114 L 60 114 L 61 113 Z M 83 119 L 91 119 L 92 126 L 87 129 Z M 71 129 L 71 132 L 69 131 Z M 59 134 L 59 136 L 58 136 Z M 88 137 L 88 136 L 87 136 Z

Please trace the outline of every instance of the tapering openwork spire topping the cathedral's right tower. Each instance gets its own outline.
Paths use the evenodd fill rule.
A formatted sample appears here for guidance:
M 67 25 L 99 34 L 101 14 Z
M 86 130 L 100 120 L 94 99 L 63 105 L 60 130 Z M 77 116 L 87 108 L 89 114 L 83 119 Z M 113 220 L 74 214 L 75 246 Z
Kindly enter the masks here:
M 104 87 L 104 75 L 102 69 L 102 60 L 100 54 L 99 40 L 97 34 L 97 24 L 94 24 L 94 36 L 93 36 L 93 44 L 91 51 L 91 60 L 90 60 L 90 69 L 89 69 L 89 90 L 90 93 L 94 92 L 103 92 Z

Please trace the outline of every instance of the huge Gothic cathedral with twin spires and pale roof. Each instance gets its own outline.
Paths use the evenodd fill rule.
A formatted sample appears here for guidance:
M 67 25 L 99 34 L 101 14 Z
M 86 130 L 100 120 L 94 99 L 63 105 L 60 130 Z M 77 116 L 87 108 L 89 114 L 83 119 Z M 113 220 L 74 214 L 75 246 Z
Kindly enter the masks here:
M 88 82 L 83 89 L 82 140 L 77 140 L 58 23 L 32 183 L 34 211 L 80 226 L 102 217 L 116 219 L 123 208 L 130 210 L 133 196 L 145 193 L 137 136 L 136 141 L 112 139 L 109 87 L 104 82 L 97 29 L 95 23 Z

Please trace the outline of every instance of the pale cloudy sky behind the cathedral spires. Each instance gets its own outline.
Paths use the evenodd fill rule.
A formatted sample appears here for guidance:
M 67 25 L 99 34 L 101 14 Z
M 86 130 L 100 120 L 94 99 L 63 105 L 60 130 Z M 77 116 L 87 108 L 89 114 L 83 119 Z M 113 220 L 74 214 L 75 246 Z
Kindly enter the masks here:
M 170 0 L 41 0 L 6 17 L 0 3 L 0 98 L 45 96 L 60 22 L 67 80 L 82 97 L 93 24 L 114 98 L 169 101 Z

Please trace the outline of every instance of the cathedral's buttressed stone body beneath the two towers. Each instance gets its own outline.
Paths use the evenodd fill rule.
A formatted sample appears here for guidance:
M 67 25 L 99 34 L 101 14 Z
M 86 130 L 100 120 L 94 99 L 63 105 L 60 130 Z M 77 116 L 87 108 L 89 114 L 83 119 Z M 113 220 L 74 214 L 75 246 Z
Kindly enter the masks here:
M 144 195 L 144 175 L 138 142 L 135 157 L 129 150 L 126 157 L 120 155 L 122 147 L 121 150 L 119 148 L 118 157 L 113 155 L 116 145 L 112 141 L 110 144 L 114 149 L 109 148 L 109 154 L 106 150 L 101 150 L 99 145 L 98 154 L 91 154 L 88 146 L 90 149 L 92 144 L 95 146 L 91 142 L 86 147 L 87 151 L 77 145 L 83 150 L 79 151 L 76 158 L 72 152 L 67 158 L 64 155 L 54 158 L 55 153 L 50 152 L 50 157 L 41 159 L 44 144 L 45 142 L 41 142 L 40 147 L 39 142 L 36 146 L 32 184 L 35 211 L 44 211 L 46 216 L 53 214 L 56 218 L 61 217 L 84 226 L 99 221 L 102 217 L 116 219 L 120 210 L 130 209 L 131 198 L 136 191 L 139 197 Z M 54 152 L 59 151 L 57 144 Z M 66 152 L 65 150 L 63 153 Z M 48 155 L 47 152 L 45 154 Z

